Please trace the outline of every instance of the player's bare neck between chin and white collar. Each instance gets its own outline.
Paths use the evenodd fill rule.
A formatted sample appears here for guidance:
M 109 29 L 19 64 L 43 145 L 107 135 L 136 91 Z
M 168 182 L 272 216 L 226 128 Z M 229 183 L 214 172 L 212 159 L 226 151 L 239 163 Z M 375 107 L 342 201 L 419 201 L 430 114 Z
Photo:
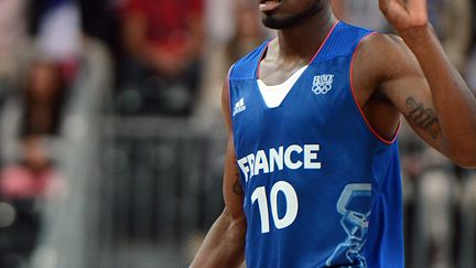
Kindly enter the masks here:
M 280 57 L 311 60 L 335 22 L 336 19 L 328 9 L 305 23 L 278 31 Z

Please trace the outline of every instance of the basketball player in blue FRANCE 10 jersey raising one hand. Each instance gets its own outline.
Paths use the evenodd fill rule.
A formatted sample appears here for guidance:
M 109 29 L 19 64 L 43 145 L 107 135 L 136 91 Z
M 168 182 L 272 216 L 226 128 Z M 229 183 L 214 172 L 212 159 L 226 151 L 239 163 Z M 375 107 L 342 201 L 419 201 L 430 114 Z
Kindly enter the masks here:
M 400 115 L 476 165 L 475 98 L 426 1 L 379 6 L 401 39 L 337 21 L 328 0 L 260 1 L 278 39 L 229 71 L 226 207 L 192 267 L 403 267 Z

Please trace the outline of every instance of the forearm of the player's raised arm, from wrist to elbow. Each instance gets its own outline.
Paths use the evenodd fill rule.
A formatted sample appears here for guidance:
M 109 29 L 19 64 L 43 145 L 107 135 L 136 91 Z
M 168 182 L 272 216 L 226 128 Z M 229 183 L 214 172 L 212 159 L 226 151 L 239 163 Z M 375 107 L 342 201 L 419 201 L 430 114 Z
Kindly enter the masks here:
M 400 33 L 415 54 L 432 90 L 443 148 L 458 164 L 476 167 L 476 101 L 450 63 L 430 24 Z

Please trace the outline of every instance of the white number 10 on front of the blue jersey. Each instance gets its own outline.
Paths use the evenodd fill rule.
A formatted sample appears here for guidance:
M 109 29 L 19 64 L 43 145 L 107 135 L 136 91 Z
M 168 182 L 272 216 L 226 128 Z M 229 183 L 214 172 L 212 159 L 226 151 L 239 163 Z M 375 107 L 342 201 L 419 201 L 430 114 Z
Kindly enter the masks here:
M 278 194 L 280 192 L 284 194 L 284 199 L 286 202 L 286 211 L 284 213 L 284 216 L 281 218 L 278 215 Z M 269 210 L 264 186 L 257 187 L 252 192 L 251 204 L 255 204 L 256 201 L 258 201 L 258 207 L 261 217 L 261 233 L 269 233 Z M 273 217 L 274 226 L 278 229 L 290 226 L 298 216 L 298 195 L 294 191 L 294 187 L 285 181 L 279 181 L 274 183 L 274 185 L 271 187 L 269 203 L 271 204 L 271 215 Z

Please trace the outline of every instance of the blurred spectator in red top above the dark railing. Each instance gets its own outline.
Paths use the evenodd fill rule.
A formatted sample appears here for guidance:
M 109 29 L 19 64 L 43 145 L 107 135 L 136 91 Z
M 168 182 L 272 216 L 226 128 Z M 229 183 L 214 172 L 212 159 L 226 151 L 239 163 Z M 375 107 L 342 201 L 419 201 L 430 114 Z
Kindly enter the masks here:
M 191 112 L 201 77 L 203 17 L 202 0 L 127 1 L 122 111 Z

